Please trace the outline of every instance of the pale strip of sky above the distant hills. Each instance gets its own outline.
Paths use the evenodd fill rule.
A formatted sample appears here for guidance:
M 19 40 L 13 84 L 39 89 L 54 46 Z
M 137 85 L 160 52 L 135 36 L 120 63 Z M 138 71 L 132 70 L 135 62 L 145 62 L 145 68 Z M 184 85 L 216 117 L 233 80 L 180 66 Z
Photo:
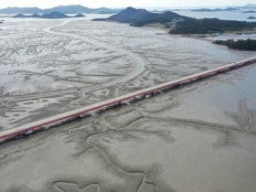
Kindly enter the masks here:
M 85 5 L 89 7 L 180 7 L 180 6 L 225 6 L 256 4 L 256 0 L 1 0 L 0 7 L 56 5 Z

